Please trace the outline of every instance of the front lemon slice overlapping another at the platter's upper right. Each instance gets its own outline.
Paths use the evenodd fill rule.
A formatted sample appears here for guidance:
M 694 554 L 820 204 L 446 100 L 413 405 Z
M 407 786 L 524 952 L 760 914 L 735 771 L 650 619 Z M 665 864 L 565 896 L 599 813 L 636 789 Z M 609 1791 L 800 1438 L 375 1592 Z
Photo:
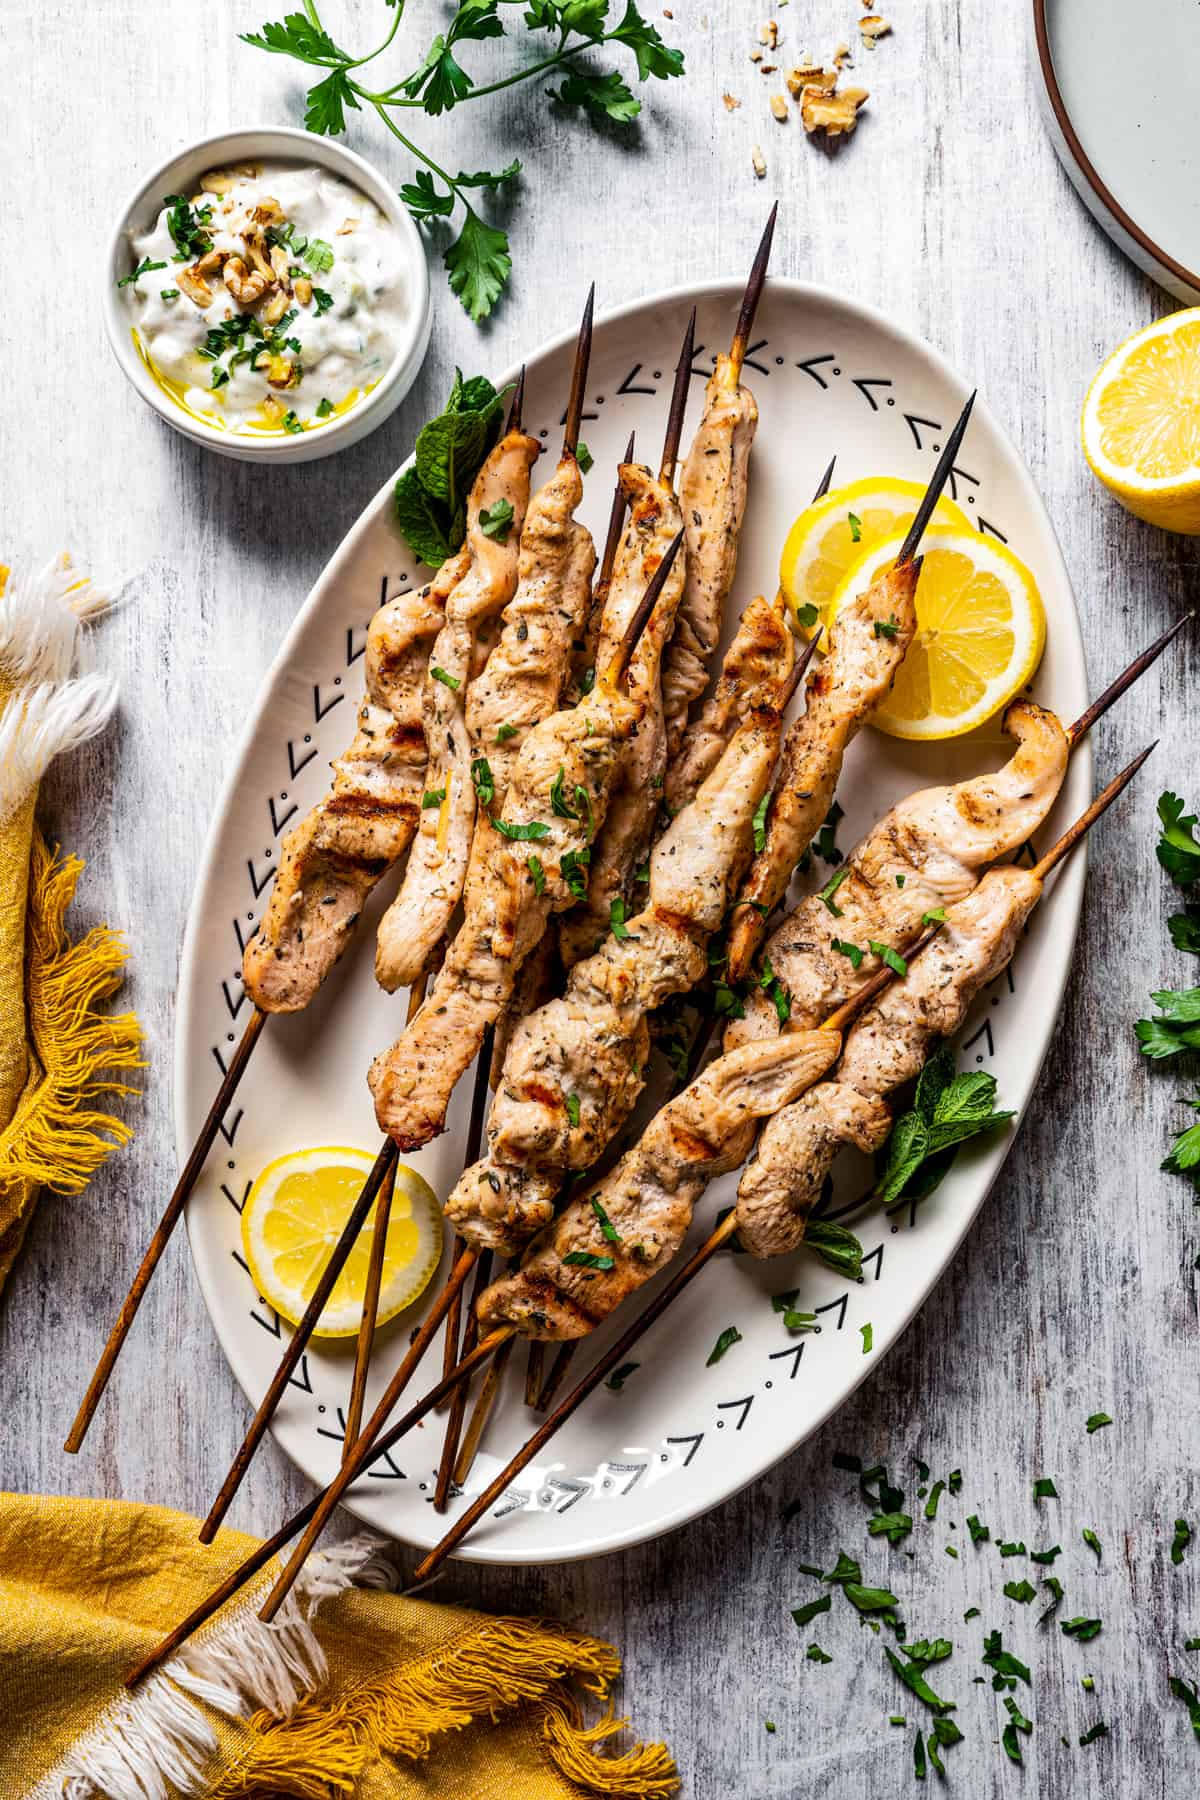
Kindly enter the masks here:
M 860 556 L 833 596 L 835 617 L 901 544 L 898 531 Z M 1025 565 L 970 526 L 930 526 L 921 556 L 916 635 L 871 724 L 891 738 L 959 738 L 1025 686 L 1045 648 L 1045 610 Z

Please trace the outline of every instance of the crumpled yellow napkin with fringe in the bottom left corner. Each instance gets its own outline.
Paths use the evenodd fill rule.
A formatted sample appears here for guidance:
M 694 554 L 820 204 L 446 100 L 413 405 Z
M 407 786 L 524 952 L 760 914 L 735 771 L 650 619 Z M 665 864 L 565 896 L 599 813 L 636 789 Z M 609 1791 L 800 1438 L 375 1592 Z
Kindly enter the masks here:
M 662 1744 L 606 1755 L 615 1651 L 567 1625 L 385 1591 L 372 1539 L 317 1552 L 272 1625 L 277 1564 L 164 1670 L 124 1672 L 255 1541 L 121 1501 L 0 1496 L 0 1793 L 14 1800 L 666 1800 Z

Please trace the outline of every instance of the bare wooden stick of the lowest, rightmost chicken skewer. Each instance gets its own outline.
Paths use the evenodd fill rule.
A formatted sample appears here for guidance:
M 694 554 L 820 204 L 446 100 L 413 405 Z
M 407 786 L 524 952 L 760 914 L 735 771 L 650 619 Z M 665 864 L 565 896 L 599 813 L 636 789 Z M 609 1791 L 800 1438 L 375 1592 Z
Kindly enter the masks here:
M 1121 770 L 1119 776 L 1096 796 L 1087 812 L 1076 819 L 1076 823 L 1058 839 L 1052 850 L 1033 869 L 1036 880 L 1045 880 L 1051 869 L 1058 868 L 1063 857 L 1070 855 L 1079 839 L 1096 824 L 1096 821 L 1112 806 L 1115 797 L 1130 785 L 1137 770 L 1142 767 L 1153 743 L 1148 745 L 1139 756 Z M 937 932 L 930 932 L 923 943 L 928 943 Z M 919 947 L 918 947 L 919 949 Z M 916 952 L 914 952 L 916 954 Z M 844 1030 L 853 1017 L 856 1017 L 869 999 L 874 999 L 891 983 L 891 970 L 883 968 L 862 988 L 853 1001 L 838 1006 L 829 1019 L 824 1021 L 824 1030 Z M 462 1543 L 468 1532 L 482 1519 L 482 1516 L 495 1505 L 495 1501 L 504 1494 L 515 1476 L 525 1469 L 538 1451 L 545 1449 L 554 1433 L 570 1418 L 578 1406 L 599 1386 L 599 1382 L 608 1375 L 615 1364 L 630 1354 L 633 1345 L 639 1341 L 642 1332 L 655 1323 L 657 1318 L 671 1305 L 671 1301 L 693 1282 L 705 1264 L 716 1255 L 716 1251 L 729 1242 L 729 1238 L 738 1229 L 738 1211 L 730 1210 L 721 1224 L 705 1238 L 700 1249 L 689 1256 L 684 1267 L 667 1282 L 667 1285 L 653 1296 L 653 1300 L 642 1309 L 640 1316 L 630 1325 L 630 1328 L 612 1345 L 610 1350 L 588 1370 L 583 1381 L 570 1391 L 570 1395 L 556 1408 L 554 1413 L 538 1426 L 527 1444 L 516 1453 L 516 1456 L 500 1471 L 500 1474 L 491 1481 L 484 1492 L 475 1499 L 461 1519 L 455 1519 L 452 1528 L 446 1532 L 443 1541 L 430 1550 L 430 1553 L 416 1566 L 412 1571 L 414 1582 L 428 1580 L 434 1575 L 450 1552 Z M 495 1336 L 495 1334 L 493 1334 Z

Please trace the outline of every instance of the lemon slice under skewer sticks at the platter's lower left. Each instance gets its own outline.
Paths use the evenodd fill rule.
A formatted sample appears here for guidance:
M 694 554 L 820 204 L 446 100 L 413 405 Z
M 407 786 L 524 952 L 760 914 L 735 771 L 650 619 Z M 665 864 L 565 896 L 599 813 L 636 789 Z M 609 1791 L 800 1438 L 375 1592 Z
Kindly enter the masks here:
M 372 1163 L 365 1150 L 340 1143 L 293 1150 L 268 1163 L 250 1188 L 241 1213 L 241 1246 L 259 1294 L 288 1323 L 297 1325 L 304 1316 Z M 358 1330 L 372 1226 L 374 1206 L 333 1283 L 315 1337 L 353 1337 Z M 380 1325 L 403 1312 L 428 1287 L 441 1251 L 437 1195 L 401 1163 L 387 1226 Z

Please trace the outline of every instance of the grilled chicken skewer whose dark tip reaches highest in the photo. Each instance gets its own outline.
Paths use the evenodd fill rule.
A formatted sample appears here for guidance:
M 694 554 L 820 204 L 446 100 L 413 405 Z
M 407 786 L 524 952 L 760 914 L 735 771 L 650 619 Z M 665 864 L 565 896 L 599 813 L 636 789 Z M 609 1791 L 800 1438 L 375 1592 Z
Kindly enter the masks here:
M 687 529 L 687 576 L 675 637 L 662 668 L 662 713 L 667 763 L 675 761 L 687 729 L 687 713 L 709 686 L 709 662 L 721 637 L 725 603 L 738 572 L 738 544 L 747 509 L 750 448 L 757 430 L 757 403 L 741 385 L 754 317 L 766 281 L 779 203 L 770 209 L 741 299 L 729 355 L 716 360 L 703 398 L 703 418 L 693 437 L 680 506 Z

